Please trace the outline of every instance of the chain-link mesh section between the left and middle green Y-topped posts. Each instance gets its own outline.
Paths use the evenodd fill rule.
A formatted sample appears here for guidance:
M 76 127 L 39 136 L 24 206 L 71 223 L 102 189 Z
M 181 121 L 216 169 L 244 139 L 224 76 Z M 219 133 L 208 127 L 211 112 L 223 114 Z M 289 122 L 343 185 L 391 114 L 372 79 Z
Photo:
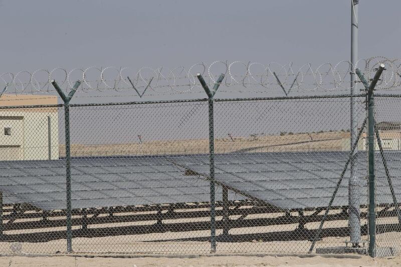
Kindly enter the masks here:
M 210 251 L 176 241 L 210 238 L 210 193 L 171 160 L 208 154 L 207 113 L 206 102 L 71 107 L 72 168 L 86 181 L 73 187 L 88 201 L 76 202 L 74 251 Z

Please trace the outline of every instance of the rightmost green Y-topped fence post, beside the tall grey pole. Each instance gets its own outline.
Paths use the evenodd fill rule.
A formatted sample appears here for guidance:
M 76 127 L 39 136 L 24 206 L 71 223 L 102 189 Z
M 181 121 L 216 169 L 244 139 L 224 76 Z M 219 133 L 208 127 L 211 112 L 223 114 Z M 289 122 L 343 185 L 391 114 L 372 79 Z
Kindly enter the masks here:
M 375 202 L 375 174 L 374 174 L 374 100 L 373 90 L 384 70 L 384 64 L 380 64 L 373 80 L 368 85 L 365 77 L 359 69 L 356 69 L 356 74 L 361 80 L 366 89 L 366 109 L 367 109 L 367 141 L 368 141 L 368 230 L 369 230 L 369 256 L 374 257 L 376 254 L 376 202 Z

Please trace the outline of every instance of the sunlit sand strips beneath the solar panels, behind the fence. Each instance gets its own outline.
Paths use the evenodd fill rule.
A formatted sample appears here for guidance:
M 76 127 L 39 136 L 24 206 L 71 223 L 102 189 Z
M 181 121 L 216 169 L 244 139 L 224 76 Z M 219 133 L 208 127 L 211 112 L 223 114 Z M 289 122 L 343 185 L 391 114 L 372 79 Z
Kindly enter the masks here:
M 332 211 L 334 212 L 334 210 Z M 272 214 L 269 214 L 272 215 Z M 254 214 L 250 216 L 265 217 L 266 214 Z M 220 219 L 220 217 L 219 217 Z M 182 220 L 182 219 L 180 219 Z M 395 217 L 379 218 L 378 224 L 396 223 Z M 361 221 L 362 224 L 365 220 Z M 127 225 L 131 223 L 121 223 Z M 308 229 L 316 229 L 319 222 L 310 222 L 305 225 Z M 325 229 L 346 227 L 346 220 L 327 221 L 324 224 Z M 74 228 L 79 226 L 74 226 Z M 297 224 L 270 225 L 270 226 L 253 226 L 232 228 L 229 233 L 234 235 L 250 234 L 250 233 L 269 233 L 276 231 L 291 231 L 297 227 Z M 41 229 L 43 230 L 43 229 Z M 391 229 L 387 229 L 391 230 Z M 15 234 L 21 230 L 11 230 L 7 233 Z M 222 234 L 222 229 L 217 230 L 217 235 Z M 209 254 L 210 242 L 201 240 L 188 240 L 186 238 L 204 237 L 208 239 L 210 230 L 196 231 L 173 231 L 162 233 L 146 233 L 146 234 L 126 234 L 104 237 L 75 237 L 72 240 L 73 250 L 76 253 L 92 253 L 92 255 L 190 255 L 190 254 Z M 181 238 L 186 239 L 183 241 Z M 331 236 L 324 237 L 316 242 L 315 248 L 344 246 L 345 241 L 349 237 Z M 367 236 L 362 236 L 362 240 L 367 240 Z M 401 251 L 400 242 L 401 232 L 389 231 L 386 233 L 376 234 L 376 244 L 378 247 L 393 247 L 399 252 Z M 366 244 L 365 244 L 366 245 Z M 238 242 L 217 242 L 218 253 L 296 253 L 305 254 L 308 252 L 311 242 L 308 240 L 291 240 L 291 241 L 263 241 L 261 239 L 252 241 Z M 58 239 L 48 242 L 0 242 L 0 254 L 56 254 L 66 252 L 66 240 Z M 1 267 L 1 266 L 0 266 Z

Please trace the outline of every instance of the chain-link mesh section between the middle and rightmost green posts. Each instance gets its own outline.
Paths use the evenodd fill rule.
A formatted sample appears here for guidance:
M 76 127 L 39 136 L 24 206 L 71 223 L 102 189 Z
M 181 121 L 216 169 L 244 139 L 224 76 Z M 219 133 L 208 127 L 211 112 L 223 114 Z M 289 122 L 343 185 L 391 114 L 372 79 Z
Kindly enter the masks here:
M 349 158 L 349 110 L 349 98 L 216 103 L 216 140 L 225 141 L 216 146 L 216 177 L 257 199 L 255 212 L 229 214 L 218 250 L 308 252 Z M 357 111 L 361 125 L 362 104 Z M 349 241 L 348 177 L 347 170 L 316 248 Z

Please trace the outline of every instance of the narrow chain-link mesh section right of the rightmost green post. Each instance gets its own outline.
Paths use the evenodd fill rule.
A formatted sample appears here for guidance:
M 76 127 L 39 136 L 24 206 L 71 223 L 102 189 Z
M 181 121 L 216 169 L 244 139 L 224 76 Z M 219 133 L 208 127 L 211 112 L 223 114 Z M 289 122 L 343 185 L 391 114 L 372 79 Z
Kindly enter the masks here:
M 401 250 L 401 98 L 375 97 L 374 102 L 376 254 L 388 255 Z

